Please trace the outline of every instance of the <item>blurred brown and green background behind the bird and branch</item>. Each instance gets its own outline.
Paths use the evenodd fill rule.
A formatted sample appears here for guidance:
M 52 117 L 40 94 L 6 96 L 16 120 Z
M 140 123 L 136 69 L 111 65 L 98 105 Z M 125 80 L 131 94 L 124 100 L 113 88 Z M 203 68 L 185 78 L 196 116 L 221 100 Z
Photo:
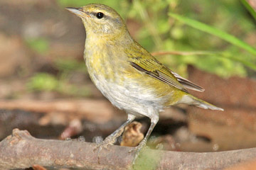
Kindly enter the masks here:
M 98 142 L 126 120 L 90 81 L 85 29 L 65 10 L 90 3 L 114 8 L 146 50 L 206 89 L 191 93 L 225 109 L 167 108 L 149 140 L 152 148 L 256 147 L 254 0 L 1 0 L 0 140 L 20 128 L 34 137 Z M 138 121 L 146 132 L 149 120 Z

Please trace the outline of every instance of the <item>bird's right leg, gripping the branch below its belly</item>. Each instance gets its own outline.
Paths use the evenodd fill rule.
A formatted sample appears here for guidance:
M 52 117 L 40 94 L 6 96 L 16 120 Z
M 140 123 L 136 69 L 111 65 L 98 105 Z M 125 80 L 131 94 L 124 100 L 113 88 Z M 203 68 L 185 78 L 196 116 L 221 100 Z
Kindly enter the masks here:
M 139 156 L 139 152 L 141 152 L 142 149 L 146 146 L 146 141 L 149 139 L 149 136 L 151 135 L 151 132 L 154 130 L 154 127 L 156 126 L 156 123 L 158 122 L 158 120 L 159 120 L 159 114 L 156 113 L 155 115 L 153 115 L 153 118 L 151 118 L 151 124 L 149 126 L 149 130 L 146 132 L 146 136 L 144 137 L 142 142 L 140 142 L 139 145 L 137 147 L 135 147 L 136 154 L 135 154 L 134 159 L 132 161 L 133 165 L 135 164 L 136 159 Z

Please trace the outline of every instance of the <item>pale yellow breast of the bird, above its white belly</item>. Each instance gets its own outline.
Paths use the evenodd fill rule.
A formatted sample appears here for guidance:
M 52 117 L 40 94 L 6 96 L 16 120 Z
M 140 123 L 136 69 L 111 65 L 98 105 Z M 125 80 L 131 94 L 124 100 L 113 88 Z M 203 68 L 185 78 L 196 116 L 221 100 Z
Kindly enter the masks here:
M 111 41 L 85 42 L 84 57 L 92 81 L 93 77 L 103 77 L 106 81 L 118 83 L 126 68 L 130 67 L 122 45 Z

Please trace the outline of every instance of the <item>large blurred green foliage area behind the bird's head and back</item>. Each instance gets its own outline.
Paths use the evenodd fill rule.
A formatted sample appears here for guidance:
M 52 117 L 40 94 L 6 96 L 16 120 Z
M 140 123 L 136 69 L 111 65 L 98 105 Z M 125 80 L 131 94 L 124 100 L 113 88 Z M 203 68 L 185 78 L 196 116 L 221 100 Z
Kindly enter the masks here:
M 255 42 L 250 39 L 251 35 L 256 34 L 255 20 L 248 13 L 247 6 L 243 6 L 244 3 L 241 1 L 58 0 L 58 3 L 63 7 L 85 6 L 90 3 L 107 4 L 116 9 L 124 20 L 129 18 L 139 25 L 135 39 L 150 52 L 178 50 L 183 52 L 208 51 L 214 54 L 157 57 L 175 72 L 184 76 L 187 65 L 193 64 L 221 77 L 230 77 L 233 75 L 246 76 L 247 69 L 255 69 L 256 63 L 255 54 L 225 41 L 227 38 L 236 37 L 230 39 L 231 43 L 233 40 Z M 250 12 L 253 15 L 253 11 Z M 169 16 L 169 13 L 177 13 L 185 19 L 191 18 L 192 21 L 200 21 L 208 25 L 208 28 L 213 28 L 213 31 L 220 30 L 222 34 L 216 37 L 201 31 L 200 26 L 191 28 L 186 26 L 183 21 L 177 21 Z M 247 47 L 254 49 L 250 45 Z

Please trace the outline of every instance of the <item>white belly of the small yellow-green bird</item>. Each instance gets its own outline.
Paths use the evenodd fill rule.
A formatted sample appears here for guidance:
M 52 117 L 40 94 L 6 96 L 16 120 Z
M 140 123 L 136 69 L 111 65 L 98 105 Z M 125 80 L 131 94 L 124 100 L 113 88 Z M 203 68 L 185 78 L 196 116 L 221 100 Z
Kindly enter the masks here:
M 134 115 L 145 115 L 150 117 L 149 111 L 161 111 L 163 107 L 163 98 L 159 98 L 154 91 L 146 89 L 146 87 L 125 82 L 124 86 L 110 83 L 104 77 L 99 75 L 90 75 L 95 86 L 102 94 L 117 108 L 125 110 Z

